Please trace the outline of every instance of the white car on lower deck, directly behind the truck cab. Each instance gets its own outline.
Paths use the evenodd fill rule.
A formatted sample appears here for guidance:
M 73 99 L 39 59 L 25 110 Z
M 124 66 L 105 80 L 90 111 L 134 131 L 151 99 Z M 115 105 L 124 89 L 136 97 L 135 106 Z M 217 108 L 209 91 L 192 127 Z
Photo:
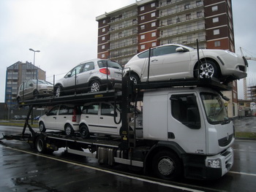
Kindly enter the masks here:
M 91 102 L 83 106 L 79 128 L 83 139 L 89 138 L 90 134 L 105 134 L 120 136 L 121 115 L 118 105 L 115 107 L 110 102 Z M 131 128 L 136 125 L 137 137 L 142 137 L 142 114 L 138 111 L 136 123 L 131 123 Z

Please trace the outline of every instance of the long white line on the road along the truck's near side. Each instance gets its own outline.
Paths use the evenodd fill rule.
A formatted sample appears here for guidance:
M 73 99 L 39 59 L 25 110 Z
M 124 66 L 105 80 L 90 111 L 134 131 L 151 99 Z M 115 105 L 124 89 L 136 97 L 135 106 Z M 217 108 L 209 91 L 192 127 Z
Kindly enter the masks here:
M 52 159 L 52 160 L 55 160 L 55 161 L 60 161 L 60 162 L 66 163 L 66 164 L 72 164 L 72 165 L 75 165 L 75 166 L 83 166 L 85 168 L 94 169 L 94 170 L 99 171 L 99 172 L 106 172 L 106 173 L 109 173 L 109 174 L 118 175 L 120 177 L 127 177 L 127 178 L 132 179 L 132 180 L 139 180 L 139 181 L 143 181 L 143 182 L 146 182 L 146 183 L 162 185 L 162 186 L 169 187 L 169 188 L 176 188 L 176 189 L 180 189 L 180 190 L 183 190 L 183 191 L 203 192 L 203 191 L 192 189 L 192 188 L 185 188 L 185 187 L 180 187 L 180 186 L 177 186 L 177 185 L 171 185 L 171 184 L 167 184 L 167 183 L 160 183 L 160 182 L 152 181 L 152 180 L 146 180 L 146 179 L 143 179 L 143 178 L 140 178 L 140 177 L 135 177 L 135 176 L 127 175 L 127 174 L 111 172 L 111 171 L 108 171 L 108 170 L 105 170 L 105 169 L 99 169 L 99 168 L 93 167 L 93 166 L 86 166 L 86 165 L 78 164 L 78 163 L 75 163 L 75 162 L 65 161 L 63 159 L 54 158 L 54 157 L 50 157 L 50 156 L 45 156 L 45 155 L 42 155 L 42 154 L 39 154 L 39 153 L 31 153 L 31 152 L 26 151 L 26 150 L 19 150 L 19 149 L 15 149 L 15 148 L 12 148 L 12 147 L 7 147 L 7 146 L 4 146 L 4 147 L 6 147 L 6 148 L 8 148 L 10 150 L 16 150 L 16 151 L 19 151 L 19 152 L 22 152 L 22 153 L 28 153 L 28 154 L 31 154 L 31 155 L 37 155 L 39 157 L 49 158 L 49 159 Z M 212 190 L 212 191 L 214 191 L 214 190 Z

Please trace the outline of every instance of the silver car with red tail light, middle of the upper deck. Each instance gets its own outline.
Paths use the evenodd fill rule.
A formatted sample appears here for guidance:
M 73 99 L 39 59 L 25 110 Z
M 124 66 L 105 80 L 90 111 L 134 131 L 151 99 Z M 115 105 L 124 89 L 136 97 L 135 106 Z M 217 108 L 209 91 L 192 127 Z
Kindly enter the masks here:
M 122 69 L 118 63 L 97 58 L 85 61 L 71 69 L 61 80 L 56 82 L 54 91 L 56 97 L 75 93 L 75 91 L 102 91 L 107 85 L 109 88 L 113 88 L 116 82 L 120 83 L 121 77 Z

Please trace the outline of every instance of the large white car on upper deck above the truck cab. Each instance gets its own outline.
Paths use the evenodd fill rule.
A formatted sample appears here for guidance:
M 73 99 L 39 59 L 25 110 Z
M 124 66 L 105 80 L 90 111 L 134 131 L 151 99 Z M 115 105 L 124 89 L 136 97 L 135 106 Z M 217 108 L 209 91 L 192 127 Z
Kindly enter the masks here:
M 124 66 L 124 75 L 135 83 L 148 78 L 149 50 L 138 53 Z M 154 47 L 150 53 L 149 80 L 161 81 L 179 78 L 211 78 L 230 82 L 246 77 L 248 63 L 228 50 L 199 50 L 184 45 L 170 44 Z

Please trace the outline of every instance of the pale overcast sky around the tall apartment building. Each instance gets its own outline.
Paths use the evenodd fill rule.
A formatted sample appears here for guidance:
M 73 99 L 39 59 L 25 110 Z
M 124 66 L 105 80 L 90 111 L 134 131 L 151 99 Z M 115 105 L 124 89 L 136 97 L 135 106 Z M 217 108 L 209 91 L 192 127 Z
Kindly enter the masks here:
M 0 0 L 0 102 L 4 102 L 6 70 L 29 61 L 53 82 L 82 61 L 97 58 L 96 17 L 135 0 Z M 236 53 L 256 58 L 255 0 L 233 0 Z M 256 81 L 256 61 L 249 61 L 249 82 Z M 242 80 L 238 82 L 241 87 Z M 239 88 L 238 99 L 243 98 Z

